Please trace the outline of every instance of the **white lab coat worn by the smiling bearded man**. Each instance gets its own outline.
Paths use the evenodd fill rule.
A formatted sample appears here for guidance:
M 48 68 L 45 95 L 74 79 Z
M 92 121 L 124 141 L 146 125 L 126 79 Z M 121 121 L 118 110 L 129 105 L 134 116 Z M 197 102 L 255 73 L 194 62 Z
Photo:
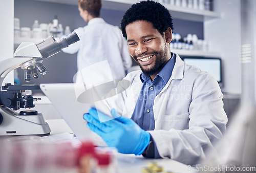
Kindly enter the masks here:
M 119 82 L 115 101 L 107 99 L 125 117 L 133 114 L 142 87 L 140 74 L 127 74 Z M 159 155 L 188 165 L 204 159 L 206 150 L 212 149 L 226 131 L 222 98 L 214 77 L 176 55 L 172 76 L 154 100 L 155 130 L 148 131 Z

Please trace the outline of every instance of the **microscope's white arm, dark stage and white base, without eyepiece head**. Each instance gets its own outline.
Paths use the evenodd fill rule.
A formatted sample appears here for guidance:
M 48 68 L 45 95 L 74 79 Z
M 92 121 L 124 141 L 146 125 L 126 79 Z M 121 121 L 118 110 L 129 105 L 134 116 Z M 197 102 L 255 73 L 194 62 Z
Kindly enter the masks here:
M 33 61 L 34 58 L 9 58 L 0 62 L 0 83 L 2 86 L 5 76 L 11 71 L 26 62 Z M 12 65 L 15 64 L 15 65 Z M 7 73 L 8 72 L 8 73 Z M 16 88 L 16 91 L 10 90 L 11 87 Z M 29 99 L 24 96 L 22 97 L 22 92 L 29 90 L 31 86 L 22 85 L 10 85 L 6 84 L 1 87 L 0 93 L 0 135 L 49 135 L 51 129 L 49 125 L 45 122 L 42 114 L 36 111 L 27 111 L 27 114 L 20 115 L 17 110 L 20 107 L 32 108 L 33 106 L 27 107 L 26 103 Z M 33 98 L 33 97 L 32 97 Z M 35 99 L 37 100 L 37 99 Z M 33 99 L 32 99 L 33 101 Z M 25 112 L 20 112 L 25 113 Z M 31 115 L 34 114 L 34 115 Z

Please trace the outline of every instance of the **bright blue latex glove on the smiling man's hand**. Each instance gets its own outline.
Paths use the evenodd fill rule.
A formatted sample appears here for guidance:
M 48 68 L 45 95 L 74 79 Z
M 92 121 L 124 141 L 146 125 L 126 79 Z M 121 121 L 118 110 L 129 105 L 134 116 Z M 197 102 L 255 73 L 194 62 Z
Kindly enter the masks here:
M 92 108 L 83 115 L 83 119 L 109 147 L 116 147 L 119 153 L 141 155 L 150 142 L 150 133 L 141 129 L 132 119 L 120 116 L 115 109 L 111 110 L 111 114 L 117 118 L 100 122 L 98 117 L 107 115 Z

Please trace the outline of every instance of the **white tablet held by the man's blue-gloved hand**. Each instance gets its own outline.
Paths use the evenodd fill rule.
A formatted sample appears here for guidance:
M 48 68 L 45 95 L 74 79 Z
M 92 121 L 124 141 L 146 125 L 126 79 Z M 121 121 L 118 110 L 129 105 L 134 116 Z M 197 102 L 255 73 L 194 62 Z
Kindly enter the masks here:
M 74 83 L 42 83 L 41 91 L 49 98 L 56 110 L 62 118 L 70 126 L 78 139 L 90 139 L 98 146 L 106 146 L 105 142 L 97 134 L 87 127 L 87 122 L 83 119 L 83 114 L 88 113 L 92 106 L 90 95 L 84 93 L 83 85 Z M 85 97 L 81 101 L 79 96 L 83 94 Z M 101 106 L 102 112 L 108 113 L 108 107 Z

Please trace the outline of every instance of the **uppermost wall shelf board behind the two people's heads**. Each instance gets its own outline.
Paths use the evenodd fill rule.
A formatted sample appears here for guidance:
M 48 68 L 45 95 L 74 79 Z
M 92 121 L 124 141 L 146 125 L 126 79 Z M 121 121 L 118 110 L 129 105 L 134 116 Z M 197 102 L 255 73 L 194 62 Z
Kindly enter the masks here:
M 77 5 L 77 0 L 34 0 L 41 2 L 51 2 L 59 4 L 69 4 Z M 140 2 L 137 0 L 102 0 L 102 8 L 126 11 L 133 4 Z M 177 7 L 170 4 L 163 4 L 172 14 L 173 18 L 185 19 L 191 21 L 206 21 L 213 18 L 220 18 L 221 13 L 206 11 L 206 10 L 196 10 L 184 7 Z

